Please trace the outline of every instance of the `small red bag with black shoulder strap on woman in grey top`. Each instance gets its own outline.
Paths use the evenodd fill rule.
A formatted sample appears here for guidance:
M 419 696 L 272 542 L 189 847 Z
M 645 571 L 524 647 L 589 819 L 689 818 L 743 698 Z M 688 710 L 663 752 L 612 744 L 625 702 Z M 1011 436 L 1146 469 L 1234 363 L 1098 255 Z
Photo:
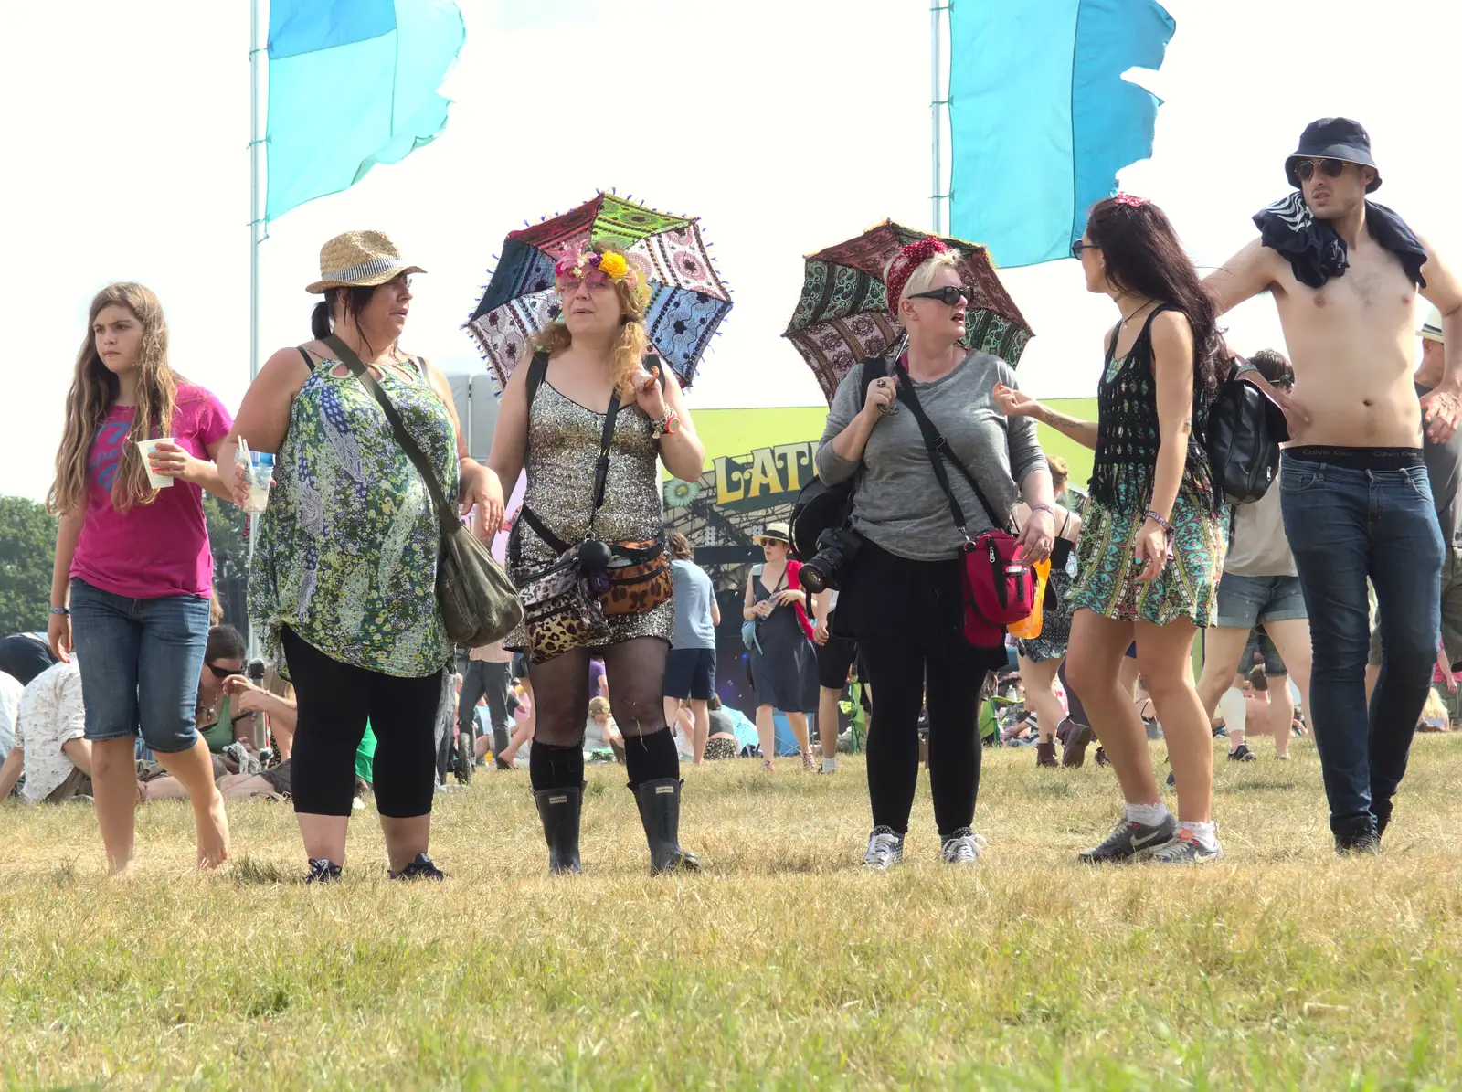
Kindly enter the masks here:
M 1035 610 L 1035 570 L 1018 560 L 1020 539 L 1003 528 L 1009 520 L 1000 519 L 994 507 L 985 498 L 980 482 L 949 450 L 949 441 L 934 428 L 934 424 L 924 415 L 924 408 L 918 403 L 914 383 L 909 382 L 905 363 L 901 360 L 895 368 L 899 382 L 899 399 L 908 405 L 924 434 L 924 446 L 928 449 L 928 459 L 934 468 L 934 478 L 944 491 L 949 501 L 949 513 L 955 517 L 955 526 L 965 536 L 959 558 L 963 566 L 962 580 L 965 585 L 965 640 L 980 649 L 993 649 L 1004 645 L 1006 630 L 1010 623 L 1020 621 Z M 965 529 L 965 513 L 955 500 L 953 490 L 949 488 L 949 475 L 944 472 L 944 460 L 969 482 L 969 487 L 980 497 L 980 503 L 990 517 L 993 531 L 987 531 L 980 538 L 971 538 Z

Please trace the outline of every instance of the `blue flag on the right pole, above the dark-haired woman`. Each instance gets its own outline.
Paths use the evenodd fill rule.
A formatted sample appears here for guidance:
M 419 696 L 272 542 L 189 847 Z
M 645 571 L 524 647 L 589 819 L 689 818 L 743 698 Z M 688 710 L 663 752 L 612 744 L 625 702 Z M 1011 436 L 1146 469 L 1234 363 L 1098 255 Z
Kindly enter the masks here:
M 1070 254 L 1117 171 L 1152 155 L 1177 23 L 1155 0 L 959 0 L 949 10 L 950 234 L 1003 266 Z

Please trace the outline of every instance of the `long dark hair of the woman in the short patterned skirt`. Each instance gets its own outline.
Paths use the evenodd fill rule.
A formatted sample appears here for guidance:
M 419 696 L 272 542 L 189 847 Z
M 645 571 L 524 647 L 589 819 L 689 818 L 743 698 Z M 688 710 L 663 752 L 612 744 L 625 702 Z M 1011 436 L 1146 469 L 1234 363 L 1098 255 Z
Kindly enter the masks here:
M 1203 291 L 1167 213 L 1152 202 L 1107 197 L 1086 213 L 1086 237 L 1101 247 L 1107 281 L 1135 297 L 1165 303 L 1193 327 L 1193 396 L 1208 402 L 1228 373 L 1228 348 L 1218 330 L 1218 307 Z

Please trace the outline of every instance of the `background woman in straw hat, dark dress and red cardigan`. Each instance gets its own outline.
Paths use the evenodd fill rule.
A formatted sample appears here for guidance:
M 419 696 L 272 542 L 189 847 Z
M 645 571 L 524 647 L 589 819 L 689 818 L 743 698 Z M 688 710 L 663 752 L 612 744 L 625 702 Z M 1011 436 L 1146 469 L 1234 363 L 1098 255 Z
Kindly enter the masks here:
M 762 547 L 765 564 L 751 566 L 746 577 L 741 617 L 756 624 L 749 649 L 751 686 L 756 687 L 756 734 L 762 738 L 762 769 L 776 769 L 775 712 L 787 713 L 803 769 L 816 770 L 807 741 L 807 713 L 817 712 L 817 653 L 813 624 L 807 618 L 807 592 L 798 582 L 801 563 L 788 558 L 791 535 L 785 522 L 768 523 L 753 539 Z

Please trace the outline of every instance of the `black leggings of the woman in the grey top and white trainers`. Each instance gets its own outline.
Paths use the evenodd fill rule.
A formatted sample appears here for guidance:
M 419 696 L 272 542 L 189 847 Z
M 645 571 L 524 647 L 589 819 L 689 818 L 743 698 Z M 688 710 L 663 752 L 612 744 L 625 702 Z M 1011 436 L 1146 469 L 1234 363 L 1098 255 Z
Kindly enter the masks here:
M 920 648 L 860 637 L 873 689 L 868 727 L 868 798 L 873 824 L 908 832 L 918 788 L 918 716 L 928 705 L 928 785 L 940 838 L 975 819 L 980 791 L 981 658 L 962 639 Z

